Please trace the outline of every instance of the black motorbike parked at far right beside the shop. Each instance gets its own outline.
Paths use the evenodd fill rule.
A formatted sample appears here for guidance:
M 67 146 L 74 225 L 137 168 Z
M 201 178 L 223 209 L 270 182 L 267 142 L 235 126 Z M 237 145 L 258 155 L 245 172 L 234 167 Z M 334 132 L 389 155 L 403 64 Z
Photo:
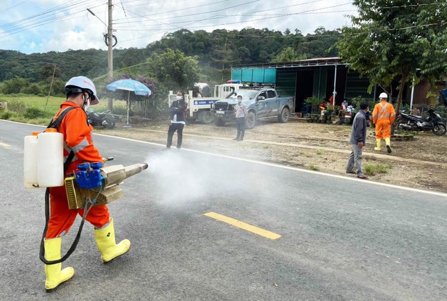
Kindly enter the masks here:
M 400 113 L 396 120 L 396 125 L 402 130 L 423 131 L 431 130 L 437 136 L 446 135 L 446 123 L 442 122 L 441 117 L 432 108 L 428 109 L 428 117 L 423 119 L 421 116 Z

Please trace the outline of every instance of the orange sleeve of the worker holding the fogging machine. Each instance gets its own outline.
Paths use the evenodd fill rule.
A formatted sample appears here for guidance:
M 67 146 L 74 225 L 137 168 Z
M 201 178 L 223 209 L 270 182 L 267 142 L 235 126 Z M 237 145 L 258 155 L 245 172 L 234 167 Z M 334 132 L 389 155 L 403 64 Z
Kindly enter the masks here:
M 71 110 L 64 118 L 65 143 L 73 150 L 76 158 L 80 161 L 100 162 L 103 157 L 93 145 L 91 140 L 91 125 L 87 125 L 87 118 L 82 109 Z

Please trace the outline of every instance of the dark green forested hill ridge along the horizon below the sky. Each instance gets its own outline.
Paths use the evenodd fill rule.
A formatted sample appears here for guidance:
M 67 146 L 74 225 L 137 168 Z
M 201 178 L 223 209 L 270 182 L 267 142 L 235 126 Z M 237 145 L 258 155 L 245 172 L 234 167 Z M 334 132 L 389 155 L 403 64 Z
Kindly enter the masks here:
M 197 55 L 201 65 L 217 71 L 229 69 L 231 65 L 270 62 L 287 47 L 295 50 L 296 58 L 328 57 L 337 55 L 335 51 L 326 53 L 326 50 L 338 40 L 338 35 L 338 31 L 324 28 L 317 28 L 315 34 L 306 36 L 297 29 L 295 33 L 268 28 L 218 29 L 212 33 L 182 29 L 143 49 L 114 49 L 114 69 L 139 65 L 146 62 L 151 53 L 166 48 Z M 87 49 L 24 54 L 0 50 L 0 82 L 16 76 L 38 82 L 48 77 L 49 65 L 58 67 L 58 76 L 62 80 L 78 75 L 96 78 L 107 74 L 107 51 Z

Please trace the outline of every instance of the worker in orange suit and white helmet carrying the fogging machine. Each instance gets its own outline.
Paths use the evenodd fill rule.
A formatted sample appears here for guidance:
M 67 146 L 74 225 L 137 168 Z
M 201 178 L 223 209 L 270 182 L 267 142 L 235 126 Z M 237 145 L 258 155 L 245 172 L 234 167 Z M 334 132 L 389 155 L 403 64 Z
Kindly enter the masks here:
M 98 150 L 91 141 L 91 131 L 93 128 L 87 122 L 85 111 L 89 105 L 99 103 L 96 96 L 96 88 L 94 83 L 84 76 L 71 78 L 65 85 L 67 93 L 67 101 L 60 105 L 58 114 L 62 111 L 74 107 L 69 110 L 58 127 L 58 132 L 64 135 L 64 157 L 67 160 L 69 153 L 74 154 L 69 168 L 65 172 L 73 173 L 78 164 L 82 162 L 101 162 L 103 157 L 100 156 Z M 75 221 L 78 214 L 82 216 L 84 209 L 69 209 L 67 193 L 65 187 L 50 188 L 50 218 L 48 230 L 44 239 L 45 259 L 47 261 L 55 261 L 60 259 L 60 246 L 62 236 L 69 232 L 71 225 Z M 94 234 L 96 245 L 101 253 L 101 259 L 104 263 L 123 255 L 130 248 L 130 241 L 125 239 L 119 244 L 115 242 L 114 222 L 109 217 L 107 205 L 98 205 L 91 207 L 85 219 L 94 225 Z M 73 268 L 64 268 L 61 270 L 62 263 L 45 265 L 45 289 L 51 291 L 62 282 L 73 277 Z

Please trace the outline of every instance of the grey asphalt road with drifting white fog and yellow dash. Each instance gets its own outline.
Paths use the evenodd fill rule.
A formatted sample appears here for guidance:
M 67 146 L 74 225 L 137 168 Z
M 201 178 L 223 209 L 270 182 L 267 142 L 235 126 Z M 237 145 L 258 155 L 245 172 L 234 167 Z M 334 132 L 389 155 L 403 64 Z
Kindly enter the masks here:
M 100 135 L 110 164 L 149 163 L 109 205 L 132 247 L 102 264 L 86 223 L 63 264 L 73 279 L 46 293 L 44 189 L 23 188 L 23 140 L 36 130 L 0 121 L 0 300 L 447 300 L 445 194 Z

